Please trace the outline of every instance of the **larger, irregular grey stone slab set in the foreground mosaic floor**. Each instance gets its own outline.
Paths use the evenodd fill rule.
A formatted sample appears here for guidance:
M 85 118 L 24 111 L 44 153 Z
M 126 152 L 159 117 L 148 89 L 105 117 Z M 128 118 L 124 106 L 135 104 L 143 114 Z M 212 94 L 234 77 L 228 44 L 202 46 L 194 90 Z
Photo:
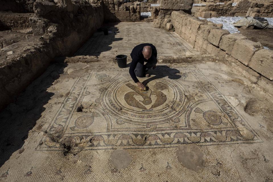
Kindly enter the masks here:
M 180 145 L 176 151 L 177 160 L 188 169 L 202 172 L 206 157 L 204 152 L 195 144 Z

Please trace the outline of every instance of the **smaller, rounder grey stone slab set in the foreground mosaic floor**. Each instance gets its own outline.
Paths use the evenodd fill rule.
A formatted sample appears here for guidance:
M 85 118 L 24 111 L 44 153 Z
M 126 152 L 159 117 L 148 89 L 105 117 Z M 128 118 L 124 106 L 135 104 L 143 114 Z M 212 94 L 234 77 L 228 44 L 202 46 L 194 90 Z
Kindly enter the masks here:
M 116 149 L 111 154 L 111 163 L 115 169 L 125 169 L 132 162 L 132 156 L 123 149 Z

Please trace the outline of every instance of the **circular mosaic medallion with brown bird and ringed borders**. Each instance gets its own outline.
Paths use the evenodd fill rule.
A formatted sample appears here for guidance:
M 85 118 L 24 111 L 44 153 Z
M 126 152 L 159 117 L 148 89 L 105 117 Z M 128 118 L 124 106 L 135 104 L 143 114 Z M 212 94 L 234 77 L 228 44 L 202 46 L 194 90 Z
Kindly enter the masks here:
M 185 91 L 169 78 L 141 78 L 148 90 L 139 90 L 130 76 L 115 80 L 103 92 L 102 104 L 126 123 L 164 123 L 185 112 Z M 119 121 L 122 122 L 122 121 Z M 147 123 L 148 122 L 148 123 Z

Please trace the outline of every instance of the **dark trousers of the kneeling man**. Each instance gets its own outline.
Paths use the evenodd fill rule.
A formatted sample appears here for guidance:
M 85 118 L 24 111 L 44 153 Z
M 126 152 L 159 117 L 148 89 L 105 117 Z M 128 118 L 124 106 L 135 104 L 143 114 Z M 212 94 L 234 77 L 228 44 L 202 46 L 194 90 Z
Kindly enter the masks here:
M 135 74 L 137 77 L 145 77 L 147 71 L 154 67 L 157 63 L 157 59 L 155 56 L 150 57 L 150 59 L 147 60 L 147 63 L 145 65 L 142 65 L 141 63 L 137 63 L 137 66 L 135 68 Z

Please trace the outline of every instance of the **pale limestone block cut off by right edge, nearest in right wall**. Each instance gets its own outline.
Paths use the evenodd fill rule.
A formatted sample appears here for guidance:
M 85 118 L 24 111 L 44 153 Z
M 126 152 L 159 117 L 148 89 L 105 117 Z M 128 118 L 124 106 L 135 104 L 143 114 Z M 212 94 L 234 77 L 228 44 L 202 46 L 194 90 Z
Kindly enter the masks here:
M 273 80 L 273 50 L 260 49 L 256 51 L 248 66 L 266 78 Z

